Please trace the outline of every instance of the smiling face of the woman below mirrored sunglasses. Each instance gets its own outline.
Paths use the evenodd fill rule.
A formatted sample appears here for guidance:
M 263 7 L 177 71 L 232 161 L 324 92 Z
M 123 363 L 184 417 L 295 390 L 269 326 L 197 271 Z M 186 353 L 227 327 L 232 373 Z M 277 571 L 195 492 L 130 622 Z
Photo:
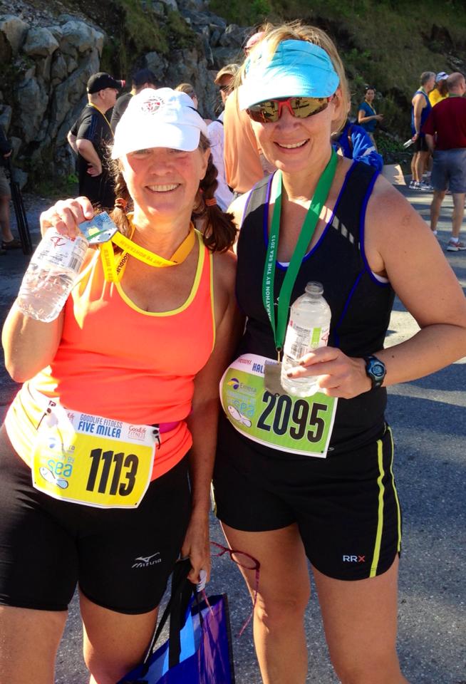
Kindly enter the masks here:
M 298 118 L 289 108 L 282 108 L 275 123 L 252 121 L 252 128 L 265 157 L 286 173 L 309 170 L 330 149 L 332 123 L 340 115 L 342 103 L 337 93 L 325 110 L 307 118 Z

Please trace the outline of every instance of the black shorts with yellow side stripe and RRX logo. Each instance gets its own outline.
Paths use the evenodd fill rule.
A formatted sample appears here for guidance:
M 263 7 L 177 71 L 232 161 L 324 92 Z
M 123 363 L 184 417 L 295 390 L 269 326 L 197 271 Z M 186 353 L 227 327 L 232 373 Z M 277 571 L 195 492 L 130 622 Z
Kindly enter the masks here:
M 335 579 L 380 575 L 400 553 L 401 517 L 389 427 L 378 440 L 326 459 L 296 457 L 239 435 L 222 415 L 214 496 L 217 517 L 264 532 L 296 523 L 306 556 Z

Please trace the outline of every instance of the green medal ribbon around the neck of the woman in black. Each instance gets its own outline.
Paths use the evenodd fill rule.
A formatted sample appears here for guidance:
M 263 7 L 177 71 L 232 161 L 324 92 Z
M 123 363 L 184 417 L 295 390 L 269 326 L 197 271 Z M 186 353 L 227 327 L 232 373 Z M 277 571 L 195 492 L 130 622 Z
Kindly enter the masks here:
M 277 311 L 277 321 L 275 321 L 274 309 L 274 276 L 276 253 L 279 247 L 280 214 L 281 214 L 281 171 L 277 171 L 276 192 L 274 197 L 274 215 L 271 220 L 269 244 L 267 245 L 266 261 L 264 264 L 264 276 L 262 278 L 262 301 L 269 316 L 272 331 L 274 331 L 275 348 L 279 354 L 283 348 L 285 339 L 286 324 L 288 323 L 288 311 L 296 277 L 301 267 L 301 261 L 306 254 L 306 249 L 311 242 L 316 229 L 317 222 L 321 215 L 323 204 L 325 204 L 330 191 L 333 177 L 336 172 L 337 155 L 332 150 L 330 160 L 319 178 L 311 205 L 304 219 L 298 242 L 294 248 L 293 256 L 286 269 L 284 281 L 279 292 L 279 306 Z

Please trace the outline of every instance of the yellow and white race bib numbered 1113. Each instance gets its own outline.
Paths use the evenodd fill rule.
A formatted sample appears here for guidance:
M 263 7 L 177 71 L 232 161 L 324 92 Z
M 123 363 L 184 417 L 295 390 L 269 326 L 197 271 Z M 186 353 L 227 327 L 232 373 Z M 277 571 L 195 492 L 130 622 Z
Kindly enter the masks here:
M 33 486 L 54 499 L 136 508 L 150 483 L 159 430 L 48 403 L 38 427 Z

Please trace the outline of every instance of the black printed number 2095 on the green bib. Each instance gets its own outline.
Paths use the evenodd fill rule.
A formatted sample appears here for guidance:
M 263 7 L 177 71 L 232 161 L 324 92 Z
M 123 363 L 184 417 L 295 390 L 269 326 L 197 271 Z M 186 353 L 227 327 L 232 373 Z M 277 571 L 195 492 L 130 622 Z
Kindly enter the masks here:
M 305 399 L 293 401 L 287 394 L 277 397 L 268 391 L 264 392 L 262 402 L 266 406 L 257 421 L 259 430 L 272 431 L 279 436 L 288 433 L 293 440 L 306 436 L 311 443 L 322 439 L 325 420 L 320 414 L 328 410 L 325 404 L 309 404 Z

